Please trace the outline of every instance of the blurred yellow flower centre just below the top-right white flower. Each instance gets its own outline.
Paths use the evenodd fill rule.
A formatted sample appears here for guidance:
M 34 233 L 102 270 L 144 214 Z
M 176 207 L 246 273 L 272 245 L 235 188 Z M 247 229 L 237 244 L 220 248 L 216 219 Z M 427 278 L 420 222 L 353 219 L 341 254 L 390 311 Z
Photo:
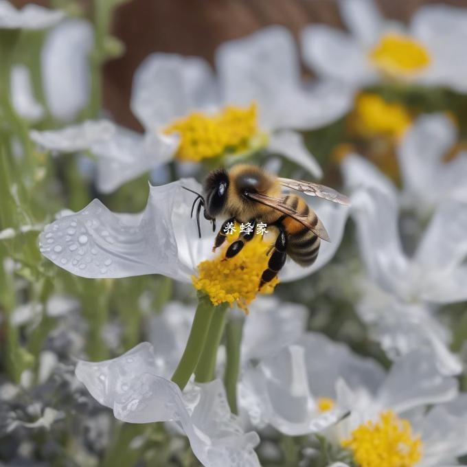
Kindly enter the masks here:
M 352 123 L 358 135 L 398 139 L 411 125 L 411 115 L 402 104 L 386 102 L 377 94 L 361 93 L 356 98 Z

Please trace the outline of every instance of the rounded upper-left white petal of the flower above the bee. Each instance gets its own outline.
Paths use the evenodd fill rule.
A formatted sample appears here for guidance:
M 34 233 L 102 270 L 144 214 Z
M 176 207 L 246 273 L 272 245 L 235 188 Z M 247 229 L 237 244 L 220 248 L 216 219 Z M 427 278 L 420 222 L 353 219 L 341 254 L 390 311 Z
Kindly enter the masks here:
M 212 71 L 198 57 L 151 54 L 133 78 L 131 110 L 150 132 L 216 102 Z

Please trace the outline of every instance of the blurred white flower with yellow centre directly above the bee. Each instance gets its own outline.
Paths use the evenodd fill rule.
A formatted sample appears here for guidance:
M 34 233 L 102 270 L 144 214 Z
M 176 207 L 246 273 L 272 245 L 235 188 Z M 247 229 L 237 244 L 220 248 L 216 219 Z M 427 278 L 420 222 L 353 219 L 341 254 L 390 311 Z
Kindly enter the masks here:
M 113 139 L 100 141 L 99 150 L 90 147 L 102 159 L 100 191 L 111 192 L 174 157 L 199 162 L 227 155 L 234 161 L 264 148 L 321 176 L 293 130 L 338 119 L 350 109 L 352 93 L 329 83 L 301 83 L 293 38 L 282 27 L 223 44 L 216 64 L 218 76 L 201 58 L 152 54 L 144 60 L 133 80 L 131 109 L 145 133 L 115 127 Z M 200 135 L 195 142 L 188 127 Z M 39 133 L 33 139 L 43 144 Z M 61 145 L 43 146 L 60 150 Z

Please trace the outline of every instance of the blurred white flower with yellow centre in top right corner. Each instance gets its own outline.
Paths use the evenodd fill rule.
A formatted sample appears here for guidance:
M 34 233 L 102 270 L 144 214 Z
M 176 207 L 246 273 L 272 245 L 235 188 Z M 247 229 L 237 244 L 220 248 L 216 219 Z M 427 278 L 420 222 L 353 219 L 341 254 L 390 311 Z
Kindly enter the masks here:
M 467 12 L 429 5 L 409 27 L 387 21 L 372 0 L 341 0 L 350 33 L 310 25 L 302 35 L 304 60 L 319 76 L 351 87 L 393 78 L 467 92 Z

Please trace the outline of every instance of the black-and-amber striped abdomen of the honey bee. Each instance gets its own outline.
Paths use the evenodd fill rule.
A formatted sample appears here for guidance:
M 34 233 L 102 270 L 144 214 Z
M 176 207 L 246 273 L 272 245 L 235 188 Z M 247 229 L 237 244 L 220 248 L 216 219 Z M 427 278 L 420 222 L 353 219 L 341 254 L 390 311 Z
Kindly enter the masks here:
M 297 213 L 307 216 L 311 225 L 317 224 L 317 215 L 308 207 L 303 198 L 296 194 L 289 194 L 284 202 L 293 207 Z M 318 256 L 319 245 L 321 244 L 319 237 L 291 217 L 284 218 L 282 225 L 284 225 L 288 236 L 287 254 L 301 266 L 313 264 Z

